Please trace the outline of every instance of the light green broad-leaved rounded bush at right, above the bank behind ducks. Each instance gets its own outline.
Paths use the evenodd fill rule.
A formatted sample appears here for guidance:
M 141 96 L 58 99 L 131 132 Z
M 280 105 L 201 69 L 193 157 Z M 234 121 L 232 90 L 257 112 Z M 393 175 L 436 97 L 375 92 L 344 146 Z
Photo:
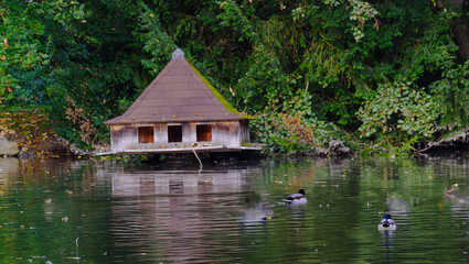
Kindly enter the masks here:
M 409 86 L 408 81 L 385 84 L 360 109 L 359 131 L 363 138 L 383 141 L 392 136 L 399 140 L 397 144 L 431 139 L 436 132 L 437 105 L 429 95 Z

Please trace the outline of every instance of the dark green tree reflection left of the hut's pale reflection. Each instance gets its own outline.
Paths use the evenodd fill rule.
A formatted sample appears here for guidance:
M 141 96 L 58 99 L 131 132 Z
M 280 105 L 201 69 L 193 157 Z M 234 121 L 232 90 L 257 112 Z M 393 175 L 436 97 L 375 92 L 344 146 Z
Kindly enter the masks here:
M 3 184 L 0 260 L 6 263 L 70 263 L 67 257 L 75 256 L 75 240 L 82 238 L 81 231 L 88 233 L 79 240 L 82 254 L 92 256 L 102 246 L 107 246 L 105 242 L 92 245 L 92 241 L 99 238 L 106 241 L 103 230 L 93 232 L 97 212 L 99 218 L 106 216 L 102 208 L 95 210 L 99 202 L 84 207 L 86 201 L 74 199 L 90 197 L 92 190 L 85 183 L 93 178 L 89 177 L 93 165 L 89 161 L 0 160 Z M 67 222 L 63 221 L 65 218 Z

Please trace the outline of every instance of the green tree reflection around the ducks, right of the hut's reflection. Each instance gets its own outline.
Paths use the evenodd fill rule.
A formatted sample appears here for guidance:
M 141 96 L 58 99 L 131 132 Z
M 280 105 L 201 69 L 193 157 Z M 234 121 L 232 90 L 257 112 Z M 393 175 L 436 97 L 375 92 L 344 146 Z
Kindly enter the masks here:
M 466 183 L 467 189 L 468 177 L 465 175 L 469 175 L 467 160 L 287 160 L 271 163 L 275 164 L 268 164 L 264 177 L 271 185 L 269 191 L 279 195 L 296 191 L 298 187 L 306 189 L 308 215 L 305 224 L 309 227 L 299 230 L 302 238 L 312 238 L 306 239 L 309 246 L 306 248 L 309 251 L 318 249 L 317 257 L 323 261 L 343 254 L 348 260 L 355 260 L 387 254 L 390 250 L 405 250 L 402 244 L 393 248 L 395 241 L 390 235 L 383 238 L 382 246 L 375 243 L 380 241 L 376 228 L 382 218 L 380 213 L 393 212 L 397 226 L 402 224 L 401 229 L 408 229 L 406 224 L 417 222 L 417 226 L 412 224 L 417 233 L 437 230 L 448 219 L 428 221 L 423 216 L 434 219 L 428 216 L 428 210 L 441 213 L 438 205 L 443 189 L 455 180 Z M 338 212 L 338 208 L 342 210 Z M 276 211 L 276 218 L 278 215 Z M 284 241 L 289 239 L 284 238 Z M 271 241 L 267 243 L 269 248 L 279 246 Z M 337 254 L 329 251 L 328 255 L 321 255 L 321 249 L 328 246 L 338 250 Z M 298 251 L 299 248 L 286 251 Z

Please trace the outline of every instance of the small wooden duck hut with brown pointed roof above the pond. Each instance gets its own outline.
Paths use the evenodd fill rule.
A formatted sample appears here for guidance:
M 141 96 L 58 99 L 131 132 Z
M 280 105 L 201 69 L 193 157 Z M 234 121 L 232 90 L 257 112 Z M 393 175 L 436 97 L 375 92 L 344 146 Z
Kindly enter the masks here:
M 248 150 L 248 119 L 184 58 L 171 62 L 110 127 L 113 153 Z

